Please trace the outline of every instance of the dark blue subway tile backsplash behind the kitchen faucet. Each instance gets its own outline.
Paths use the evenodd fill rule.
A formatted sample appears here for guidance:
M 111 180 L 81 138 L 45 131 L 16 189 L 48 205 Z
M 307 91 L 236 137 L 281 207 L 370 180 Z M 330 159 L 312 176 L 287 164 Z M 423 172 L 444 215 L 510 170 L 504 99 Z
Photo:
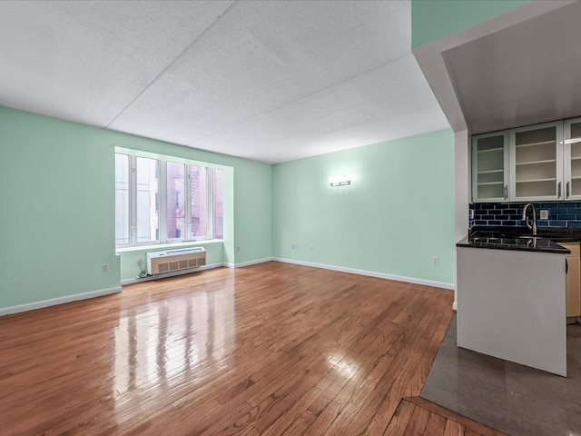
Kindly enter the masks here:
M 521 220 L 527 203 L 472 203 L 473 225 L 524 225 Z M 539 227 L 581 227 L 581 202 L 533 203 Z M 540 219 L 540 211 L 548 211 L 548 220 Z M 530 215 L 530 211 L 528 212 Z

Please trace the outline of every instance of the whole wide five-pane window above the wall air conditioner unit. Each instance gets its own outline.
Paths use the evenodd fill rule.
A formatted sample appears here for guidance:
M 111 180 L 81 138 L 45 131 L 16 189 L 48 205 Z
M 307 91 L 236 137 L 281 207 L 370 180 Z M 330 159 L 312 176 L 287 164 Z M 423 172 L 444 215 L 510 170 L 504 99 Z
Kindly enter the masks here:
M 218 168 L 115 154 L 115 243 L 223 238 Z

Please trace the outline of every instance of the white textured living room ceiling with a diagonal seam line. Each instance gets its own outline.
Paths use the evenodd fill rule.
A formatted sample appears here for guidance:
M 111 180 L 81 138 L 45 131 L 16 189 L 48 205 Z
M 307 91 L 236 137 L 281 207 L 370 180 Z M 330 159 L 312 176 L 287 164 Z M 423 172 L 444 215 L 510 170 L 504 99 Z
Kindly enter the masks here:
M 448 127 L 409 1 L 0 2 L 0 104 L 280 163 Z

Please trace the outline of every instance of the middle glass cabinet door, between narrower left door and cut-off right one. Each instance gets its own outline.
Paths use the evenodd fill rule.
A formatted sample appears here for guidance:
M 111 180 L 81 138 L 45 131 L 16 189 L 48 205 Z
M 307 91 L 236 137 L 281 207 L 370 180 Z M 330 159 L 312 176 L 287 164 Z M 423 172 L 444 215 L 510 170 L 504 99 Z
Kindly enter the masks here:
M 565 198 L 562 123 L 512 129 L 510 162 L 512 201 Z M 579 168 L 581 169 L 581 166 Z

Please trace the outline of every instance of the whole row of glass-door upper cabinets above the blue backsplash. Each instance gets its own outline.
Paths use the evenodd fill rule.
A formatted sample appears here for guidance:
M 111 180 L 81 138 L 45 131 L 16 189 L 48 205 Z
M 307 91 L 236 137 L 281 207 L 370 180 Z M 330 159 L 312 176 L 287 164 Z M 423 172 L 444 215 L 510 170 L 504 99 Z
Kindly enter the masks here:
M 472 201 L 581 200 L 581 118 L 472 138 Z

